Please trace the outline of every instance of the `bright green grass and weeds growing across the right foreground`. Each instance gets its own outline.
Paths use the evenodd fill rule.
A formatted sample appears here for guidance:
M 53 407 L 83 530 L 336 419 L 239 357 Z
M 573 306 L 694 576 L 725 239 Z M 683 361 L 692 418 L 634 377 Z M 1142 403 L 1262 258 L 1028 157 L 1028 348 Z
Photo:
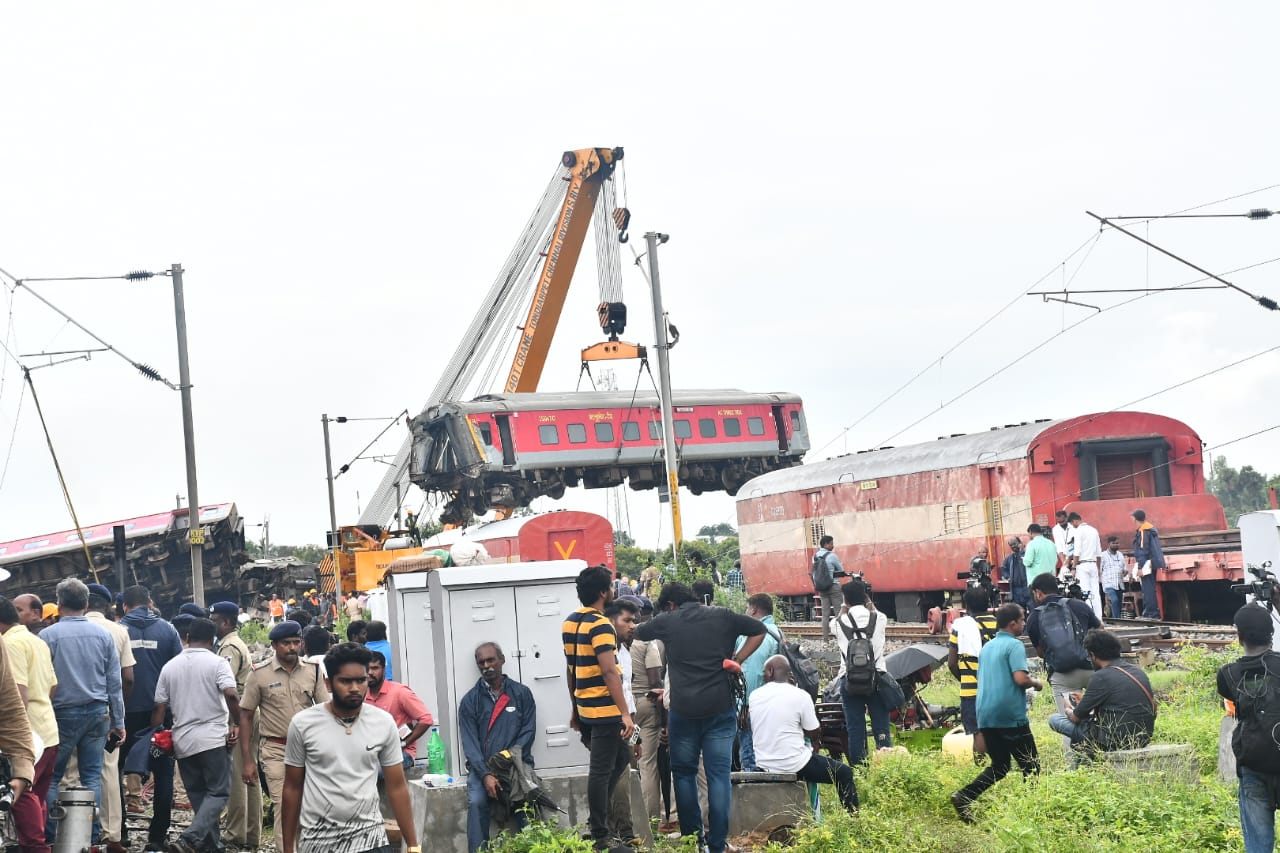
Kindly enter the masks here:
M 1174 662 L 1153 669 L 1152 686 L 1160 698 L 1156 743 L 1190 743 L 1202 776 L 1198 783 L 1160 774 L 1137 780 L 1116 777 L 1103 767 L 1068 770 L 1061 738 L 1046 722 L 1052 703 L 1037 697 L 1032 730 L 1043 767 L 1038 777 L 1023 780 L 1014 771 L 974 804 L 977 824 L 961 824 L 950 795 L 968 784 L 978 768 L 941 753 L 877 756 L 856 771 L 861 808 L 850 817 L 831 786 L 822 788 L 822 820 L 805 820 L 788 845 L 768 845 L 771 853 L 1180 853 L 1226 852 L 1243 848 L 1235 785 L 1216 779 L 1217 731 L 1222 707 L 1215 674 L 1238 649 L 1210 653 L 1183 649 Z M 934 704 L 954 704 L 955 681 L 938 670 L 925 695 Z M 530 838 L 498 841 L 497 850 L 553 853 L 584 849 L 572 831 L 540 827 Z M 691 849 L 658 841 L 657 850 Z

